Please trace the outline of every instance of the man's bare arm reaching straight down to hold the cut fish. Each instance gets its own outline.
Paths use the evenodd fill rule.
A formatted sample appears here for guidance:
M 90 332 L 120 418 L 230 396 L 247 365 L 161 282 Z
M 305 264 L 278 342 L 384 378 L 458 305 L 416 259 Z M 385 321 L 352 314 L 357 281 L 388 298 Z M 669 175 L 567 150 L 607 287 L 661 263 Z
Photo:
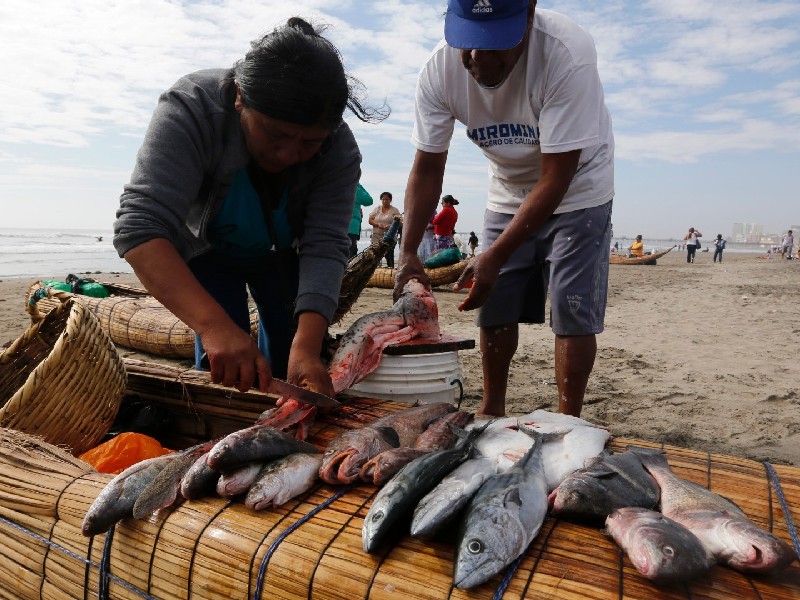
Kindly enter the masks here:
M 417 256 L 417 248 L 422 242 L 425 227 L 436 210 L 439 195 L 442 193 L 444 168 L 447 152 L 434 154 L 417 150 L 414 164 L 408 176 L 404 199 L 403 238 L 400 243 L 400 265 L 395 279 L 394 297 L 400 295 L 409 279 L 417 278 L 430 285 L 428 276 Z

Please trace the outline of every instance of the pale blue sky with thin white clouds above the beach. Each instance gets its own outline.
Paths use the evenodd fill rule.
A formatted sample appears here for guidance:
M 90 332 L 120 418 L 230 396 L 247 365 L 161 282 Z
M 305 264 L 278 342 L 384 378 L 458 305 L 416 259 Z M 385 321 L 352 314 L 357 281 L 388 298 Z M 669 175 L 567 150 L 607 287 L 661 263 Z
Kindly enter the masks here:
M 326 25 L 380 124 L 347 118 L 362 184 L 401 208 L 419 69 L 444 0 L 4 0 L 0 227 L 110 230 L 158 95 L 292 15 Z M 800 2 L 540 0 L 594 37 L 616 139 L 614 233 L 800 224 Z M 457 125 L 457 127 L 459 127 Z M 460 131 L 463 133 L 463 127 Z M 480 232 L 487 166 L 457 128 L 443 193 Z

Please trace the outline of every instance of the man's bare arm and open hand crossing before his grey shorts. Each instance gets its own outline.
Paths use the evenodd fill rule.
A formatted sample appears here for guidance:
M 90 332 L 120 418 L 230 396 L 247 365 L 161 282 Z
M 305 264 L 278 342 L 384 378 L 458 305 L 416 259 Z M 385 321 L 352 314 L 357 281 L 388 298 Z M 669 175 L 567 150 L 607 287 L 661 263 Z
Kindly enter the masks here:
M 459 310 L 483 306 L 494 287 L 500 268 L 514 251 L 541 227 L 561 204 L 578 168 L 581 151 L 542 154 L 542 174 L 522 201 L 517 214 L 490 248 L 476 256 L 458 280 L 459 289 L 470 278 L 472 288 Z

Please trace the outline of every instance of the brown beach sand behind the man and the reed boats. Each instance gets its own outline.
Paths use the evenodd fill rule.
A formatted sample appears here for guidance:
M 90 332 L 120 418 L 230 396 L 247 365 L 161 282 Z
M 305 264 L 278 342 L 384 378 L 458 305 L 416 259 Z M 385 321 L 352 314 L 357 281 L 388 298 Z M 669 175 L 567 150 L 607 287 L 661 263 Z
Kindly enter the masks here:
M 606 330 L 589 380 L 584 417 L 614 435 L 800 466 L 800 261 L 701 253 L 694 264 L 673 251 L 656 266 L 611 265 Z M 136 283 L 132 275 L 95 274 Z M 41 279 L 61 279 L 50 274 Z M 35 279 L 0 281 L 0 344 L 29 323 L 24 296 Z M 474 316 L 456 306 L 462 293 L 437 293 L 443 332 L 477 340 Z M 391 305 L 391 291 L 364 290 L 355 318 Z M 126 357 L 179 363 L 119 348 Z M 477 408 L 480 352 L 459 352 L 463 406 Z M 553 335 L 520 328 L 511 368 L 508 414 L 555 410 Z

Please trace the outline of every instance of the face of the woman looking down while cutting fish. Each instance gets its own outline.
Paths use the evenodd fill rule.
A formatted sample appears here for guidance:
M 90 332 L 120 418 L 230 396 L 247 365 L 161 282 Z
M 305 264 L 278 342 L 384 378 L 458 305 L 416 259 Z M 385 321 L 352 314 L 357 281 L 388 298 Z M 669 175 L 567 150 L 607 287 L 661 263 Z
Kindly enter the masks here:
M 280 173 L 310 160 L 330 134 L 324 127 L 296 125 L 268 117 L 245 106 L 238 93 L 235 107 L 247 151 L 267 173 Z

